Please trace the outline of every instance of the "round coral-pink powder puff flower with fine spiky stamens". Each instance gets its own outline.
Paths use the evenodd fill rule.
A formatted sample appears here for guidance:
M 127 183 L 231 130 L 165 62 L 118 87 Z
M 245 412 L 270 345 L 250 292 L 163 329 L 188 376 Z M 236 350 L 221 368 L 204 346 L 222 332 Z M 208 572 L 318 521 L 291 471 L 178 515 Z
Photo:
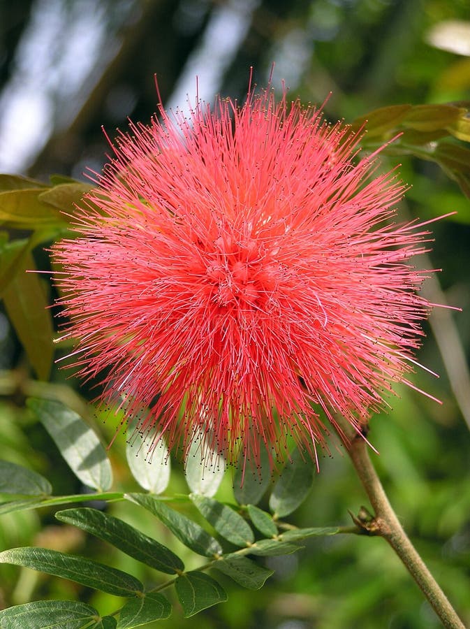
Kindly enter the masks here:
M 286 93 L 159 114 L 119 134 L 53 249 L 78 374 L 143 430 L 230 459 L 289 435 L 314 453 L 337 414 L 361 431 L 411 384 L 429 312 L 404 186 Z

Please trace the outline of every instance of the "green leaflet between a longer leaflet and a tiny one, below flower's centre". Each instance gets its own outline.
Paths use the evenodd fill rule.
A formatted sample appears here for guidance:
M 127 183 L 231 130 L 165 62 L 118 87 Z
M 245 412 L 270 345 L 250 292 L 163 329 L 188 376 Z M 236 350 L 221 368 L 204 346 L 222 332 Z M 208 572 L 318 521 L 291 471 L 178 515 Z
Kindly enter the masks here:
M 247 546 L 255 540 L 253 531 L 246 520 L 233 509 L 219 503 L 214 498 L 198 496 L 191 493 L 189 496 L 205 519 L 212 524 L 217 533 L 235 546 Z

